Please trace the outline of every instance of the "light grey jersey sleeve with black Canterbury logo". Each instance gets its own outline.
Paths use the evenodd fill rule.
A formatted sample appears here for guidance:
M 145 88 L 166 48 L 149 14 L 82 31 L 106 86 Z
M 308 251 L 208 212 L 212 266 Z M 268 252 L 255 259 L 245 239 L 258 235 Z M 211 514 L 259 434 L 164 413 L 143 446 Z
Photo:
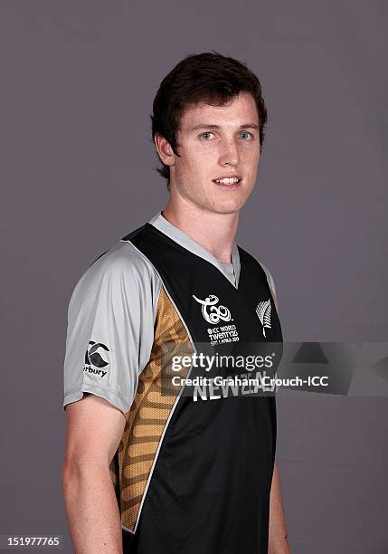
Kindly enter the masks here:
M 128 243 L 83 273 L 69 303 L 63 407 L 88 392 L 128 412 L 152 349 L 159 289 Z

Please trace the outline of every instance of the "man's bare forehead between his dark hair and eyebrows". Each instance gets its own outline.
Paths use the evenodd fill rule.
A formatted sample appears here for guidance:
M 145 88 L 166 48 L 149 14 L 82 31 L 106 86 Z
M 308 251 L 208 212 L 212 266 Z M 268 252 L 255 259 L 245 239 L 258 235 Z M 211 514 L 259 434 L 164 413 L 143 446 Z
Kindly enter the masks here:
M 224 106 L 212 106 L 204 102 L 188 106 L 182 115 L 180 129 L 190 130 L 199 123 L 234 127 L 247 122 L 259 124 L 259 114 L 252 95 L 240 92 Z

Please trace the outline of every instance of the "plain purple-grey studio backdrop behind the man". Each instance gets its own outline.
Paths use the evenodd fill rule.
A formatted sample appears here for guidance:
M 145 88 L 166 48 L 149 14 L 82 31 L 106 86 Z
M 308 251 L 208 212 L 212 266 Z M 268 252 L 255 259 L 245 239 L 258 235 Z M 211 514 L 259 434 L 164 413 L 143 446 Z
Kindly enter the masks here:
M 257 72 L 270 120 L 238 242 L 274 275 L 287 340 L 387 339 L 386 4 L 2 0 L 0 533 L 65 535 L 67 304 L 166 203 L 152 100 L 183 56 Z M 384 398 L 279 400 L 293 554 L 383 554 Z M 247 530 L 249 532 L 249 530 Z

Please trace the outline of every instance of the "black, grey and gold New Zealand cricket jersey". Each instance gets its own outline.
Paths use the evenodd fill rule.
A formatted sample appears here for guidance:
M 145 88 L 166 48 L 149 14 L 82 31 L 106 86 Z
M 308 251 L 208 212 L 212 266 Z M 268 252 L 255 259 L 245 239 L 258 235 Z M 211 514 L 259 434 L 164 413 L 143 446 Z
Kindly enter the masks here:
M 81 275 L 63 406 L 91 393 L 125 416 L 109 467 L 124 553 L 267 554 L 276 402 L 241 379 L 279 363 L 274 298 L 241 246 L 221 263 L 161 213 Z

